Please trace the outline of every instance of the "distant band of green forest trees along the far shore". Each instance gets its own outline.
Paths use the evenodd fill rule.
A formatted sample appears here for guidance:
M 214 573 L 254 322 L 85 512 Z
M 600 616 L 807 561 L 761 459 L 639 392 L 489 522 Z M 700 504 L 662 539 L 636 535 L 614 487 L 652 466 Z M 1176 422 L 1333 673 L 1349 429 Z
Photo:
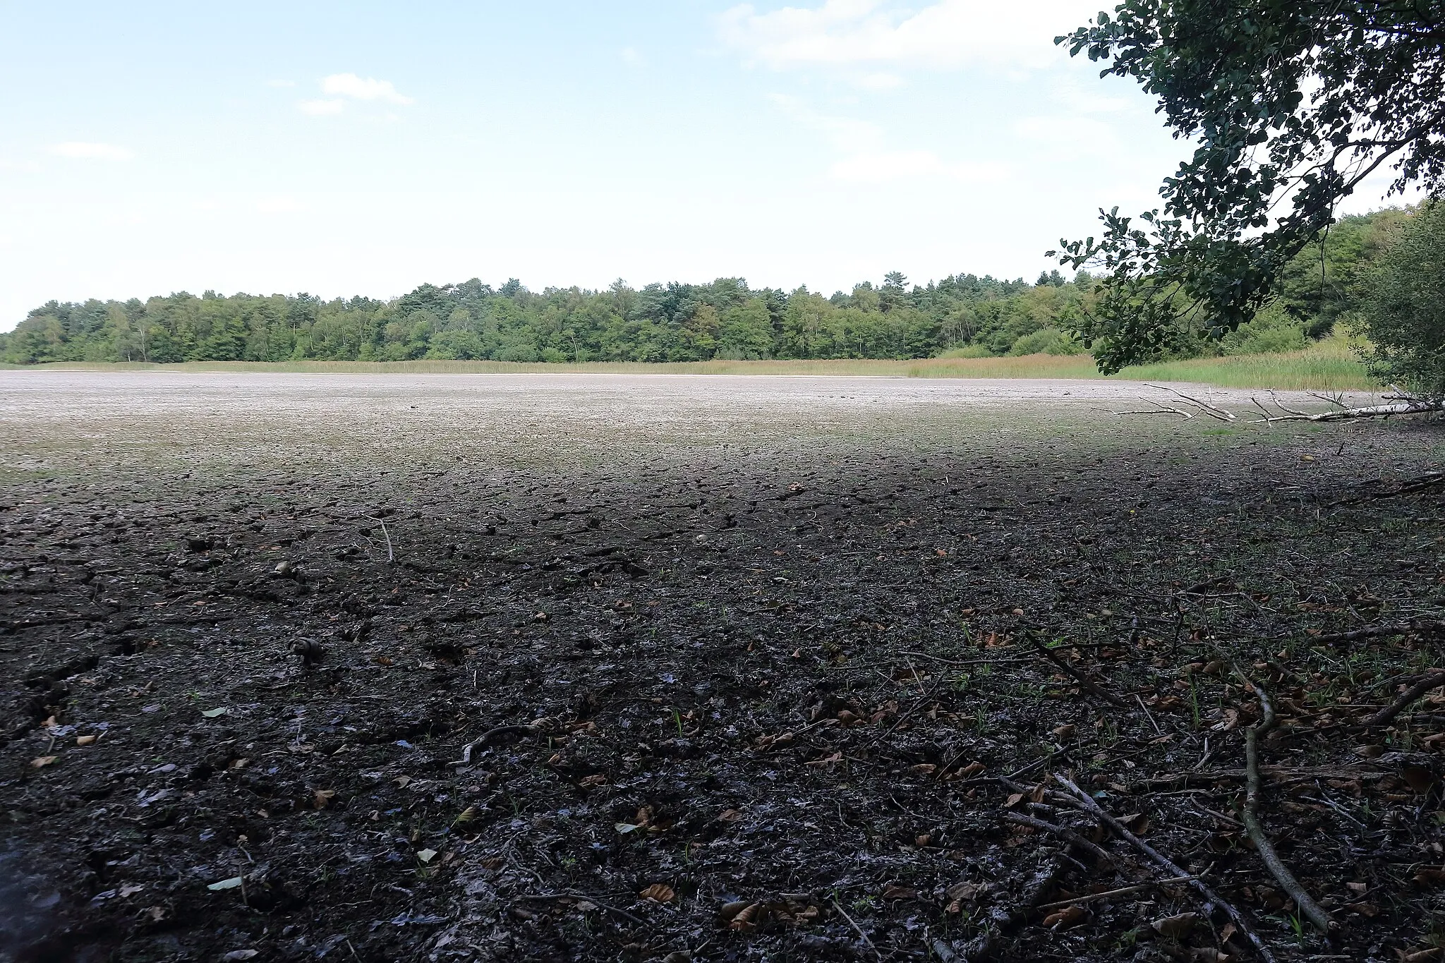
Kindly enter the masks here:
M 1358 282 L 1410 209 L 1347 217 L 1293 258 L 1279 296 L 1220 342 L 1183 334 L 1173 357 L 1302 348 L 1355 306 Z M 1094 279 L 1058 270 L 1023 279 L 954 274 L 909 286 L 902 273 L 832 296 L 806 287 L 708 284 L 605 290 L 473 279 L 422 284 L 390 300 L 298 295 L 49 302 L 0 334 L 0 361 L 705 361 L 709 358 L 928 358 L 1078 354 L 1074 334 Z

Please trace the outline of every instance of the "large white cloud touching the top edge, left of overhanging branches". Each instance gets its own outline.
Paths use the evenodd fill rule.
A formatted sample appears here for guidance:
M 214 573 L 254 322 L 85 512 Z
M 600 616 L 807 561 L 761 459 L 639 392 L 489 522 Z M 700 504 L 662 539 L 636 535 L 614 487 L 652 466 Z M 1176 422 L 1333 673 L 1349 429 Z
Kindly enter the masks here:
M 818 7 L 759 13 L 751 4 L 718 17 L 721 38 L 773 69 L 806 65 L 1042 68 L 1065 52 L 1053 38 L 1085 23 L 1087 0 L 936 0 L 905 10 L 887 0 L 827 0 Z

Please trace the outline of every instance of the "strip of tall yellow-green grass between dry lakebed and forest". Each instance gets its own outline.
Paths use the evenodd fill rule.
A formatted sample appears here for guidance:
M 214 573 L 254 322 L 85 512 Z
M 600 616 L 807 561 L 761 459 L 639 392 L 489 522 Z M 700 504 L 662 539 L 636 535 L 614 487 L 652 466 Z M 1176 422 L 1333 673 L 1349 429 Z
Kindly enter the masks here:
M 6 365 L 10 367 L 10 365 Z M 48 364 L 42 370 L 82 371 L 275 371 L 296 374 L 717 374 L 851 375 L 884 378 L 1101 378 L 1090 355 L 1007 358 L 920 358 L 912 361 L 841 358 L 829 361 L 681 361 L 669 364 L 592 361 L 520 364 L 510 361 L 191 361 L 185 364 Z M 1126 368 L 1129 381 L 1194 381 L 1227 388 L 1360 391 L 1376 387 L 1342 338 L 1303 351 L 1194 358 Z

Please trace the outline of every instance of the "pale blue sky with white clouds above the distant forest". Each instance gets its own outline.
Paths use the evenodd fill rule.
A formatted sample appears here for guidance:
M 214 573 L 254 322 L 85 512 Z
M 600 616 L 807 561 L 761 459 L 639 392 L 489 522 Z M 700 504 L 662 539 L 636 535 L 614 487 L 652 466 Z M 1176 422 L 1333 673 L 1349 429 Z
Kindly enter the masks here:
M 1053 45 L 1098 0 L 793 3 L 0 0 L 0 331 L 176 290 L 1032 280 L 1189 153 Z

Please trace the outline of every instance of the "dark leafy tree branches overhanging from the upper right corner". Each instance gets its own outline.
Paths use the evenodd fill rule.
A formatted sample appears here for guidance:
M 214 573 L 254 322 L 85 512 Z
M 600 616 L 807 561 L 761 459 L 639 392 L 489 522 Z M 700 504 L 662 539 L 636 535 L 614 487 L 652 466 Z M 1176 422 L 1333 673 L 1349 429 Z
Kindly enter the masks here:
M 1058 42 L 1198 144 L 1162 208 L 1058 253 L 1105 274 L 1078 326 L 1104 371 L 1235 331 L 1376 170 L 1445 183 L 1445 0 L 1126 0 Z

